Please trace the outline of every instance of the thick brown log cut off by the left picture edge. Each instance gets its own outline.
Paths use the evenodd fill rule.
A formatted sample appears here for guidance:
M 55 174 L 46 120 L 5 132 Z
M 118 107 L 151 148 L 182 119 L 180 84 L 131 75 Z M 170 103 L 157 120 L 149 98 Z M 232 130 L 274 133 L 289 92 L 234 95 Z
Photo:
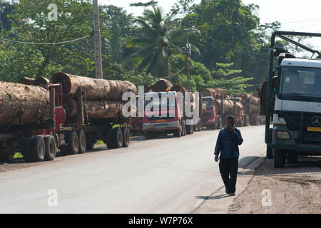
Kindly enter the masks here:
M 48 90 L 39 86 L 0 82 L 0 125 L 29 125 L 48 117 Z

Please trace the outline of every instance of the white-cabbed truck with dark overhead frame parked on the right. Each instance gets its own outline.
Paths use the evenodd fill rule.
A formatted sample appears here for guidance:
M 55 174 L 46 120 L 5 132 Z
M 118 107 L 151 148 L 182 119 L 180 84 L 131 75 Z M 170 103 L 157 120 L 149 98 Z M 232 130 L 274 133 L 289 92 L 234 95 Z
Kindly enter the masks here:
M 321 33 L 272 33 L 269 76 L 260 99 L 261 114 L 267 117 L 267 158 L 274 158 L 275 167 L 284 167 L 286 160 L 297 162 L 298 155 L 321 155 L 321 53 L 287 36 L 321 37 Z M 296 58 L 275 46 L 276 37 L 318 56 Z

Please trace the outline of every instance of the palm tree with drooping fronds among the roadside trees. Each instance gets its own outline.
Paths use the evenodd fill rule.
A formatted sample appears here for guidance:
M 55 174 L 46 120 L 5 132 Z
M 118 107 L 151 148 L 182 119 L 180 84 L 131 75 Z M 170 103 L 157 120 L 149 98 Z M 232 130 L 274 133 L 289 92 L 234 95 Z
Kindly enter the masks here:
M 153 76 L 170 76 L 170 56 L 183 53 L 178 43 L 178 29 L 173 15 L 163 16 L 159 7 L 146 9 L 143 16 L 136 18 L 137 35 L 127 47 L 133 48 L 131 61 L 138 71 L 146 71 Z

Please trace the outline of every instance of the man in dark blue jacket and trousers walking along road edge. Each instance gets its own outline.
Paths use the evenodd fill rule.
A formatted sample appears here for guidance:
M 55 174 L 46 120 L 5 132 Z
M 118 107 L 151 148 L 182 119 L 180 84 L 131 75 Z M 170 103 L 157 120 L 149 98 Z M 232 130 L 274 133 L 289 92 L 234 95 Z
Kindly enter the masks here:
M 222 176 L 225 192 L 235 195 L 236 178 L 238 176 L 238 157 L 240 151 L 238 146 L 242 144 L 243 138 L 240 130 L 235 128 L 235 119 L 228 117 L 228 125 L 220 130 L 215 146 L 215 162 L 218 162 L 220 154 L 220 175 Z

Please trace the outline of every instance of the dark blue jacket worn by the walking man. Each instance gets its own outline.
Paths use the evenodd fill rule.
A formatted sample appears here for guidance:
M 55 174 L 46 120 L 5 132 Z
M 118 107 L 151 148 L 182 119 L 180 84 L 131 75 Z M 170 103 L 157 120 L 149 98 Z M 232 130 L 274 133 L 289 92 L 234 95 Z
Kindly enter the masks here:
M 214 155 L 220 154 L 220 158 L 223 159 L 239 157 L 240 151 L 238 150 L 238 146 L 241 145 L 242 142 L 243 138 L 240 130 L 235 128 L 234 132 L 230 133 L 228 127 L 225 127 L 220 130 L 218 134 Z

